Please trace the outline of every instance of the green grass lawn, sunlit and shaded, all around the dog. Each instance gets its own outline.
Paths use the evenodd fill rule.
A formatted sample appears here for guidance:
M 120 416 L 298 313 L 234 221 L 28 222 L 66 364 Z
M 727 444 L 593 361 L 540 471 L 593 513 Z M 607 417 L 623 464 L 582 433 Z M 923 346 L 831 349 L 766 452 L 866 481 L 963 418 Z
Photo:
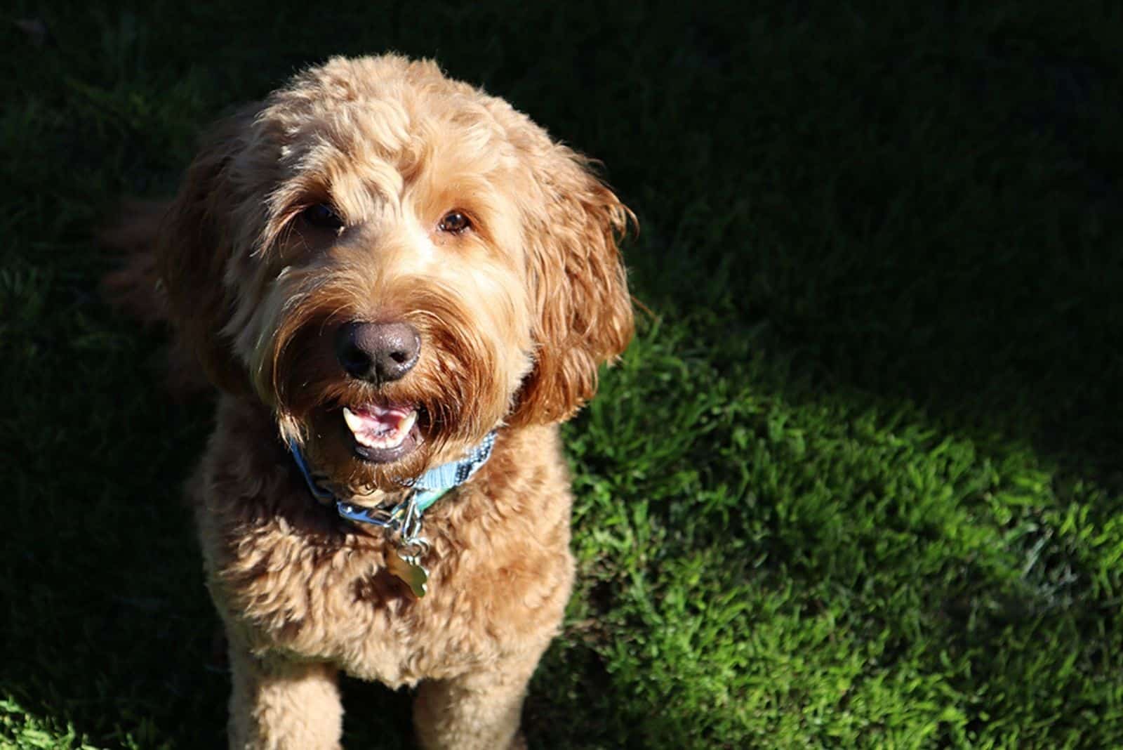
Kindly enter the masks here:
M 1123 11 L 886 4 L 17 0 L 0 747 L 221 744 L 177 491 L 208 404 L 161 392 L 91 231 L 225 108 L 384 49 L 602 158 L 642 225 L 654 314 L 565 430 L 535 747 L 1123 746 Z M 345 696 L 348 747 L 407 742 L 407 694 Z

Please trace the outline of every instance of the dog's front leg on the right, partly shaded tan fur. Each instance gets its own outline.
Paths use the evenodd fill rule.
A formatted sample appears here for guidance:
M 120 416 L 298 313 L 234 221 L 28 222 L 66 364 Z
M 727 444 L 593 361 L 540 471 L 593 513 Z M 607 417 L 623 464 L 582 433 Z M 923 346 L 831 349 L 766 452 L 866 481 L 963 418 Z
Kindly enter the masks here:
M 545 650 L 545 649 L 544 649 Z M 413 725 L 426 750 L 517 750 L 527 683 L 541 651 L 496 661 L 485 670 L 421 684 Z

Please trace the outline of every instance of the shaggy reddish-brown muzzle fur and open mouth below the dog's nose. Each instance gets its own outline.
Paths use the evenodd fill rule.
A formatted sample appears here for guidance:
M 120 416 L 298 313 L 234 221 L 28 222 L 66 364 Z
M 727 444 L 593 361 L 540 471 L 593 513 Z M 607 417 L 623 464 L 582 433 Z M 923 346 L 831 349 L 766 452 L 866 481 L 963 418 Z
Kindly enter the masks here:
M 382 385 L 347 376 L 336 358 L 334 333 L 349 313 L 295 305 L 277 327 L 262 395 L 282 436 L 337 494 L 401 490 L 481 442 L 510 411 L 529 358 L 504 362 L 500 353 L 511 347 L 447 300 L 436 307 L 430 300 L 400 317 L 419 331 L 421 354 L 405 376 Z

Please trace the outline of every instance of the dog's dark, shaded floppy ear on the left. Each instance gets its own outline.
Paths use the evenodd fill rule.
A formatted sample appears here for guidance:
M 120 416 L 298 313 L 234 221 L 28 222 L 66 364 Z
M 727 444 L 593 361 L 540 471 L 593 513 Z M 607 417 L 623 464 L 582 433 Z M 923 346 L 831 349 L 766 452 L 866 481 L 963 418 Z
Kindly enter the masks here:
M 161 282 L 180 344 L 195 354 L 208 378 L 230 393 L 248 393 L 249 382 L 222 329 L 230 319 L 234 291 L 225 277 L 239 236 L 239 204 L 231 180 L 250 112 L 219 122 L 203 138 L 156 241 Z

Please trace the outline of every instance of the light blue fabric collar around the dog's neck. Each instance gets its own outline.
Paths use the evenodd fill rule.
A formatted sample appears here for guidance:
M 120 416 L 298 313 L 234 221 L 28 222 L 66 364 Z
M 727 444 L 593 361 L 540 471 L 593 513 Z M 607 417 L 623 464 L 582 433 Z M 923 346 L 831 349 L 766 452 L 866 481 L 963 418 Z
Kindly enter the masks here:
M 309 470 L 308 461 L 294 440 L 289 441 L 289 450 L 296 461 L 296 468 L 308 484 L 312 495 L 325 503 L 335 503 L 336 512 L 348 521 L 380 527 L 390 532 L 399 532 L 404 542 L 418 538 L 421 531 L 421 514 L 440 497 L 475 474 L 491 458 L 495 445 L 495 431 L 491 431 L 478 446 L 467 451 L 463 458 L 441 464 L 418 477 L 409 487 L 404 500 L 390 509 L 363 507 L 336 497 L 327 487 L 319 485 Z

